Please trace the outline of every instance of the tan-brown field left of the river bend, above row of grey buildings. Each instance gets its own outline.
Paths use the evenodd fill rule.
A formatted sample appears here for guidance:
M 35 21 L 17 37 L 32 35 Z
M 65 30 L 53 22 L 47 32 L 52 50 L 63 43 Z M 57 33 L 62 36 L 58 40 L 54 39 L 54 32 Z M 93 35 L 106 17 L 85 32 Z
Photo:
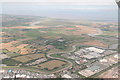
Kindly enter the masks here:
M 12 58 L 12 59 L 25 63 L 30 60 L 38 59 L 38 58 L 42 58 L 42 57 L 45 57 L 45 55 L 44 54 L 29 54 L 29 55 L 25 55 L 25 56 L 18 56 L 18 57 Z

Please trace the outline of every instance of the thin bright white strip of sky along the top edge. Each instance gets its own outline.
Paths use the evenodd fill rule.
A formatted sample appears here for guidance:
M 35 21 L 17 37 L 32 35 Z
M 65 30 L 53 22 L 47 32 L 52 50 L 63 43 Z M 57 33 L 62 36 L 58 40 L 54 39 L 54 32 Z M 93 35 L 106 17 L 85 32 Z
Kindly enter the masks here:
M 51 4 L 61 4 L 61 3 L 88 3 L 96 5 L 115 5 L 115 0 L 0 0 L 0 2 L 41 2 L 41 3 L 51 3 Z M 67 3 L 66 3 L 67 4 Z

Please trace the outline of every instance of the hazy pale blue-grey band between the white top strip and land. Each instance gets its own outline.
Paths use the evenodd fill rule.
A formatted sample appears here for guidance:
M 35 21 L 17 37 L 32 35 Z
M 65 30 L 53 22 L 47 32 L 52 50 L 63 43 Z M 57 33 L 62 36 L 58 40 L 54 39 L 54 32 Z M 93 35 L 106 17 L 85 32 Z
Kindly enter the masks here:
M 4 3 L 1 14 L 33 15 L 50 18 L 117 21 L 117 5 L 51 5 Z

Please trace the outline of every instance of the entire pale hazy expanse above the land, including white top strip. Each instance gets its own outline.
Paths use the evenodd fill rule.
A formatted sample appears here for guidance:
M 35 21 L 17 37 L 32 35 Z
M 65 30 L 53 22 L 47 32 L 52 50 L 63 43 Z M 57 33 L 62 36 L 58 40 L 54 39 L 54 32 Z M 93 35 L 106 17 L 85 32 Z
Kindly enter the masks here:
M 37 15 L 69 19 L 117 18 L 115 0 L 1 0 L 4 14 Z

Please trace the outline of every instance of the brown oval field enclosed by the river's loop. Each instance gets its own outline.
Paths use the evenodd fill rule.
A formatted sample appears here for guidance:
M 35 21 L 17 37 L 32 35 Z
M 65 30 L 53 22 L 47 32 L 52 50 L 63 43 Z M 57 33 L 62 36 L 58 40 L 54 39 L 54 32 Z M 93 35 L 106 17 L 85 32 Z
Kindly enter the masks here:
M 46 69 L 46 70 L 52 70 L 55 68 L 59 68 L 63 65 L 65 65 L 66 63 L 63 61 L 59 61 L 59 60 L 51 60 L 48 62 L 45 62 L 43 64 L 38 65 L 37 67 L 40 69 Z

